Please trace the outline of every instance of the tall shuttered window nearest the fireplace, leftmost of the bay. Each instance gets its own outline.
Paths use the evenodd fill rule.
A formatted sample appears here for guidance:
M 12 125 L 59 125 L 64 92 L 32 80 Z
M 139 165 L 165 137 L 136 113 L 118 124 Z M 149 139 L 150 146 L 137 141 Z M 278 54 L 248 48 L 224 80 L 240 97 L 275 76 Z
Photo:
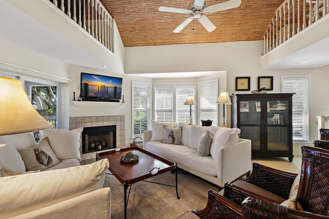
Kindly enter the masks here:
M 150 128 L 151 84 L 132 82 L 133 137 L 143 135 Z

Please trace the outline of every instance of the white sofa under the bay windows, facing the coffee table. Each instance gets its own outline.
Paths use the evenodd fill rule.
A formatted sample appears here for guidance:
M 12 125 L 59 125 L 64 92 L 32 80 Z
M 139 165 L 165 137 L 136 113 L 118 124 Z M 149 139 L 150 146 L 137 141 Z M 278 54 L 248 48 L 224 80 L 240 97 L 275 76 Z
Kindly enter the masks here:
M 168 127 L 173 127 L 171 134 L 175 135 L 174 144 L 166 144 L 168 140 L 165 138 L 170 130 Z M 143 133 L 143 148 L 177 163 L 180 169 L 224 187 L 225 183 L 230 183 L 251 170 L 251 141 L 239 138 L 239 133 L 240 129 L 236 128 L 152 121 L 152 130 Z M 179 137 L 181 141 L 177 140 Z M 205 144 L 208 152 L 202 154 Z

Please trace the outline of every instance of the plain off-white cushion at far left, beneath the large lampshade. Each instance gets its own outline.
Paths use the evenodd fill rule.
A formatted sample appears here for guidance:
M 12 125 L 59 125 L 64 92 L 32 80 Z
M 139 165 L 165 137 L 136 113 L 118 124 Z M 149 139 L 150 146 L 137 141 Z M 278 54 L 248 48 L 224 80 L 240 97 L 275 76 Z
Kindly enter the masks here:
M 0 168 L 7 168 L 14 172 L 25 172 L 25 165 L 20 153 L 11 144 L 11 142 L 0 141 L 0 144 L 7 146 L 0 147 Z

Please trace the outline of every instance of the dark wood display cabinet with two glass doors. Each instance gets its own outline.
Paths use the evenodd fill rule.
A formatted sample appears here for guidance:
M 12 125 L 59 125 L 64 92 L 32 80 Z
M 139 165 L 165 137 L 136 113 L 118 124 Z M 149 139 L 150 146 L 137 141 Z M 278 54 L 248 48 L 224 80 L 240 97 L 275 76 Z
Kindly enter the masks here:
M 252 156 L 288 157 L 293 161 L 294 93 L 233 94 L 232 127 L 251 140 Z

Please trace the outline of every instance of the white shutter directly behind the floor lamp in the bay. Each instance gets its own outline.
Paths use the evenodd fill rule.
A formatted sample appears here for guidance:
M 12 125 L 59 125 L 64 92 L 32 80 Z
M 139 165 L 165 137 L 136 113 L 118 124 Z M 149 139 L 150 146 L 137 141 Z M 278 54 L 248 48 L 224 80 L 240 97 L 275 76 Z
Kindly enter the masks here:
M 188 95 L 192 95 L 195 99 L 195 86 L 194 84 L 177 85 L 176 87 L 176 121 L 179 123 L 190 122 L 190 105 L 185 105 L 185 101 Z M 194 124 L 195 118 L 195 105 L 192 106 L 192 124 Z

